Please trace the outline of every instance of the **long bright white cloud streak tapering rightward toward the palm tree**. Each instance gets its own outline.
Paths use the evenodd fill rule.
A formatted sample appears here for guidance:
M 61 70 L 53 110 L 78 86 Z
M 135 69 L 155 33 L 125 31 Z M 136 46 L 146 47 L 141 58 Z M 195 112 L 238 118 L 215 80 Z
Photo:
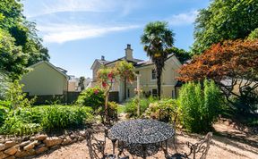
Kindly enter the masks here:
M 39 26 L 38 29 L 43 35 L 46 43 L 64 43 L 85 38 L 95 38 L 103 36 L 107 33 L 123 31 L 127 29 L 135 29 L 139 26 L 94 26 L 94 25 L 69 25 L 69 24 L 50 24 L 47 26 Z

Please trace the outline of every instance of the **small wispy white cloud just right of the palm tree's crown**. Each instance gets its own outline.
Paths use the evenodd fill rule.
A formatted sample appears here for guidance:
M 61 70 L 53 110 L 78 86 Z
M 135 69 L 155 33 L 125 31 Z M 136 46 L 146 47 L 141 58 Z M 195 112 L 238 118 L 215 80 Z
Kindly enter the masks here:
M 179 13 L 176 15 L 172 15 L 170 18 L 167 19 L 167 21 L 169 21 L 169 24 L 172 26 L 189 25 L 195 21 L 197 14 L 198 11 Z

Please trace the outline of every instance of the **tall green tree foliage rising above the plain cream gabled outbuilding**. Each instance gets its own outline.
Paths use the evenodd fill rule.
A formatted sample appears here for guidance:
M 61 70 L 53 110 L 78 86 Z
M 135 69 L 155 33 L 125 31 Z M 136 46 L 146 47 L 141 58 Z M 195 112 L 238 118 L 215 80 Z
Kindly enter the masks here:
M 18 79 L 29 65 L 49 60 L 36 24 L 27 21 L 22 10 L 20 1 L 0 2 L 0 70 L 10 71 L 12 79 Z

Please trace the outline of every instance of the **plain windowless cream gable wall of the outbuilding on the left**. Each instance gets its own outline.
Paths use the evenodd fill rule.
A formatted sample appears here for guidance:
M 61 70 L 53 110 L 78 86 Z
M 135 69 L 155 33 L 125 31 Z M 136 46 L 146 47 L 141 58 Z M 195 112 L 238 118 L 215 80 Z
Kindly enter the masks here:
M 63 95 L 67 91 L 67 79 L 47 63 L 39 63 L 32 71 L 23 75 L 23 92 L 30 96 Z

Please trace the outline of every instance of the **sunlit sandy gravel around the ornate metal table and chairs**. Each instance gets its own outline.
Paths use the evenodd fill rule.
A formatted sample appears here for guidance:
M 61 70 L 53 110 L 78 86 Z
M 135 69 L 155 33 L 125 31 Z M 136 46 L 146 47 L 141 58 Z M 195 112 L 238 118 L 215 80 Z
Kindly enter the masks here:
M 178 152 L 187 152 L 187 147 L 185 146 L 186 141 L 196 142 L 198 138 L 202 138 L 200 135 L 195 134 L 180 134 L 176 136 L 176 143 Z M 172 143 L 172 142 L 170 142 Z M 255 140 L 254 140 L 255 143 Z M 257 144 L 257 140 L 256 140 Z M 171 144 L 168 145 L 168 152 L 170 154 L 176 153 L 175 149 Z M 111 142 L 107 142 L 107 153 L 112 152 Z M 116 151 L 117 152 L 117 151 Z M 126 155 L 129 155 L 128 152 L 125 152 Z M 76 143 L 70 146 L 61 147 L 55 151 L 47 152 L 45 155 L 40 155 L 32 158 L 39 159 L 90 159 L 88 148 L 86 146 L 86 141 L 82 141 L 81 143 Z M 130 156 L 130 158 L 137 159 L 138 157 Z M 156 155 L 153 155 L 148 158 L 157 158 L 163 159 L 165 158 L 163 152 L 159 150 Z M 248 143 L 243 143 L 240 141 L 236 141 L 235 139 L 229 139 L 221 136 L 214 135 L 212 138 L 211 148 L 209 150 L 207 158 L 211 159 L 256 159 L 258 158 L 258 146 L 250 146 Z

